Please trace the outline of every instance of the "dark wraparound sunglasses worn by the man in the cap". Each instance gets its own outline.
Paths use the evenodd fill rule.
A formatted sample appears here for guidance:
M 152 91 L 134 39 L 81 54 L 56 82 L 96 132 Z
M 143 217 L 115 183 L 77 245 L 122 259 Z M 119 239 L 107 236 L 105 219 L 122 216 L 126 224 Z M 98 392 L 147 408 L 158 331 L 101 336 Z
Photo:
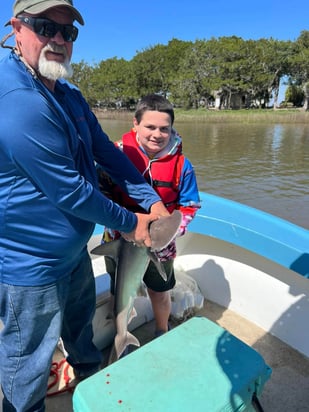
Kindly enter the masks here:
M 78 36 L 78 28 L 72 24 L 59 24 L 42 17 L 18 16 L 18 19 L 32 28 L 34 33 L 40 36 L 52 38 L 58 32 L 64 41 L 75 41 Z

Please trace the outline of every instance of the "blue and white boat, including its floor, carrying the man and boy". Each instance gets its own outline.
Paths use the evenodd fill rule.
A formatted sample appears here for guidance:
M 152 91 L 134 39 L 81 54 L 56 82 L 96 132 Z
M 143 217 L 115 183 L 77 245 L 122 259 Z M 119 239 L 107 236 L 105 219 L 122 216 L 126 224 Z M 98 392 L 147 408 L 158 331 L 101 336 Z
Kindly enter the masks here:
M 309 231 L 222 197 L 207 193 L 200 197 L 202 207 L 188 233 L 177 239 L 175 260 L 176 277 L 186 274 L 204 299 L 190 316 L 210 319 L 265 358 L 272 369 L 260 396 L 265 411 L 306 410 Z M 102 232 L 97 225 L 89 251 L 100 244 Z M 104 352 L 115 335 L 110 278 L 104 257 L 91 257 L 97 287 L 94 342 Z M 136 298 L 135 309 L 129 330 L 146 346 L 153 333 L 149 299 Z M 48 398 L 47 412 L 72 410 L 71 394 L 65 396 Z

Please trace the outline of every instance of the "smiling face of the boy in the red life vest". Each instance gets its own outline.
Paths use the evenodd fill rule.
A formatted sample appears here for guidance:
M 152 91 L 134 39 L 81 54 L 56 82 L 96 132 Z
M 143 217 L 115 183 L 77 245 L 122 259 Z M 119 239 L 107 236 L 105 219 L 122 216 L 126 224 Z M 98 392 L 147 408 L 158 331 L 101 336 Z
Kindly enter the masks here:
M 133 124 L 137 131 L 139 143 L 148 155 L 154 156 L 168 145 L 172 133 L 172 124 L 167 113 L 148 110 L 143 114 L 139 124 L 135 118 Z

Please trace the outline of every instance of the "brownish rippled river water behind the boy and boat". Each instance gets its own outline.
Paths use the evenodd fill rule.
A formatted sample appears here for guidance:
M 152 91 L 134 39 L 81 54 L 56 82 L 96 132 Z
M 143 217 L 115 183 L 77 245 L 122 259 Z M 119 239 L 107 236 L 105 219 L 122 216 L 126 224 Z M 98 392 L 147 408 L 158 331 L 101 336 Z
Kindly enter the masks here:
M 102 120 L 112 140 L 131 127 Z M 309 229 L 309 126 L 175 124 L 199 189 Z

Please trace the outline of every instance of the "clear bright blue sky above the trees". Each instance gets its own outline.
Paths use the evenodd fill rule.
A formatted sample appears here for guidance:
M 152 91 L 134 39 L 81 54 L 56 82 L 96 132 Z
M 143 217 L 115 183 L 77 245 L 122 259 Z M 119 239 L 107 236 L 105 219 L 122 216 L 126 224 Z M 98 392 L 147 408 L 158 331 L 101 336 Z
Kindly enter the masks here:
M 12 16 L 12 0 L 0 0 L 0 39 Z M 309 30 L 309 0 L 74 0 L 85 20 L 72 61 L 90 65 L 138 52 L 172 39 L 195 41 L 238 36 L 244 40 L 296 40 Z M 11 41 L 10 44 L 13 44 Z M 7 49 L 0 48 L 0 58 Z

